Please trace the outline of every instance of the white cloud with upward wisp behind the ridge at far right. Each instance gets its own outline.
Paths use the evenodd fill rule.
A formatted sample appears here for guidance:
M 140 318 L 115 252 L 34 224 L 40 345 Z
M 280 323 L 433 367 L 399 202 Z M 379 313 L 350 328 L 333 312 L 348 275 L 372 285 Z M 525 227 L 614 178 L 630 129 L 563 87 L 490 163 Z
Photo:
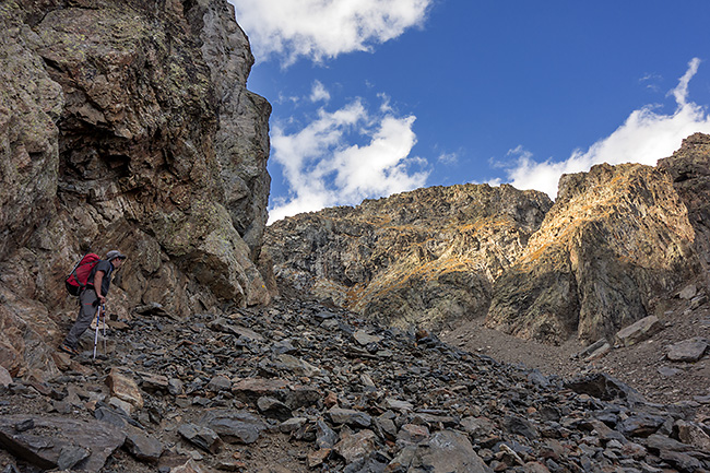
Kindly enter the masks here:
M 688 102 L 688 84 L 699 64 L 699 59 L 693 59 L 678 85 L 670 92 L 677 104 L 672 115 L 656 113 L 658 106 L 652 105 L 635 110 L 612 134 L 587 151 L 576 150 L 563 162 L 537 163 L 530 152 L 518 146 L 508 153 L 518 156 L 514 167 L 506 172 L 508 181 L 519 189 L 537 189 L 555 198 L 563 174 L 589 170 L 600 163 L 655 165 L 658 159 L 673 154 L 684 138 L 698 131 L 710 133 L 707 109 Z

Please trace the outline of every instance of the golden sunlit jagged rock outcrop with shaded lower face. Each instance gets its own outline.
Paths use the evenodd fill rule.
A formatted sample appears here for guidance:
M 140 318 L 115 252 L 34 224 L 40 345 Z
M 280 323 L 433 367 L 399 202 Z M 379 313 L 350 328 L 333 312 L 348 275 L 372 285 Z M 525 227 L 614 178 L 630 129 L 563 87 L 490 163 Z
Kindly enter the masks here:
M 604 164 L 563 176 L 540 230 L 496 281 L 487 324 L 553 343 L 611 336 L 698 273 L 695 237 L 656 168 Z

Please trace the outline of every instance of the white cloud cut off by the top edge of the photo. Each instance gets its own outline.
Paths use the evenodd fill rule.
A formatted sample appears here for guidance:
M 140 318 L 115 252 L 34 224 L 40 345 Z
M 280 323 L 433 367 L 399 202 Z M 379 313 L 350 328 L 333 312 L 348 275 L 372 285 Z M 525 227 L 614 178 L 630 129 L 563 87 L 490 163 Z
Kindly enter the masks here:
M 293 63 L 315 61 L 371 45 L 421 25 L 434 0 L 229 0 L 255 55 Z

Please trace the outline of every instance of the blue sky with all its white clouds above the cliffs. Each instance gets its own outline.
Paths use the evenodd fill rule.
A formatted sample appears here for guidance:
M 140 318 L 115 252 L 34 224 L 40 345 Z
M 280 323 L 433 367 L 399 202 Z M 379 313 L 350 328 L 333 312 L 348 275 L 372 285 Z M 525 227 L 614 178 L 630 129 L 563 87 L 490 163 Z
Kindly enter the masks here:
M 710 2 L 230 0 L 273 106 L 271 221 L 655 164 L 710 133 Z

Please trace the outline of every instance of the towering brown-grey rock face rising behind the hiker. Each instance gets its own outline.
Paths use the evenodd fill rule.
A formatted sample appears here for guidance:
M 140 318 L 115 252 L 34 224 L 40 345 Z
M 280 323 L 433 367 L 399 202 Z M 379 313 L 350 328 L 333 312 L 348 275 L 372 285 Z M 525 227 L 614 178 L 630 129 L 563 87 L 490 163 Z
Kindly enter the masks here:
M 270 106 L 226 0 L 4 1 L 0 26 L 0 364 L 52 369 L 85 249 L 129 255 L 117 312 L 268 303 Z

